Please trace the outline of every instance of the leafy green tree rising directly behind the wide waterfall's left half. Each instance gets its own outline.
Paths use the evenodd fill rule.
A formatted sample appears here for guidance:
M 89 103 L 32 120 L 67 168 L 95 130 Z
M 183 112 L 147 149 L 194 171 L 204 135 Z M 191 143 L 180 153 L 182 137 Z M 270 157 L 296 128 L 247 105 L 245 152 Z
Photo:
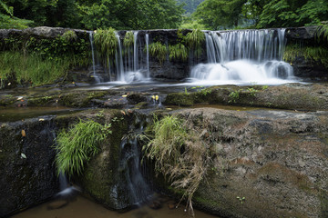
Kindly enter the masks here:
M 194 16 L 210 29 L 231 28 L 241 19 L 242 5 L 247 0 L 205 0 Z

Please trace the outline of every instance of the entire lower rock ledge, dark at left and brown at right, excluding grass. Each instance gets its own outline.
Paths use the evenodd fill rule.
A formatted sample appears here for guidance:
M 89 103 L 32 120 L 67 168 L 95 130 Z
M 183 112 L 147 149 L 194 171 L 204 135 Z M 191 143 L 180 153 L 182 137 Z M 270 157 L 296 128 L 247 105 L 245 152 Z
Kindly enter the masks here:
M 193 128 L 208 133 L 203 140 L 210 137 L 214 143 L 210 170 L 193 199 L 198 208 L 233 218 L 327 217 L 327 112 L 198 108 L 156 113 L 190 120 Z M 1 217 L 41 203 L 58 191 L 54 133 L 79 118 L 112 123 L 115 132 L 76 183 L 108 208 L 130 206 L 124 187 L 119 189 L 121 198 L 112 194 L 118 193 L 118 184 L 127 183 L 117 176 L 120 139 L 149 124 L 153 115 L 143 110 L 97 109 L 0 123 Z M 149 180 L 172 194 L 160 179 Z M 180 196 L 179 191 L 173 194 Z M 244 198 L 242 203 L 237 197 Z

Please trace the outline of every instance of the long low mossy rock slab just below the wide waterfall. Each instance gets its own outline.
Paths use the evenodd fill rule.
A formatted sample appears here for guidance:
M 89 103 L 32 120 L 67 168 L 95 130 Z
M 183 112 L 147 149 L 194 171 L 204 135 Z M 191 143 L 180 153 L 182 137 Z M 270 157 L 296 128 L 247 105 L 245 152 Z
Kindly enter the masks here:
M 213 86 L 207 91 L 168 94 L 164 104 L 231 104 L 290 110 L 327 110 L 328 86 L 325 84 L 284 84 L 279 86 Z

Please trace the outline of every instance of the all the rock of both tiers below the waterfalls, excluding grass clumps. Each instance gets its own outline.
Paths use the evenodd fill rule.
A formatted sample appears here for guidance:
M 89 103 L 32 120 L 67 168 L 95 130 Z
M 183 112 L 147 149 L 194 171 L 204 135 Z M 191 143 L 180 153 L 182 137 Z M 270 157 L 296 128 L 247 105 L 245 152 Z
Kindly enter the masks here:
M 111 123 L 113 134 L 75 182 L 108 208 L 131 207 L 124 193 L 127 181 L 119 176 L 121 138 L 151 124 L 154 113 L 190 120 L 192 128 L 204 133 L 202 140 L 215 142 L 210 170 L 193 198 L 201 210 L 221 217 L 328 215 L 327 84 L 139 84 L 109 89 L 75 85 L 1 92 L 0 112 L 44 106 L 54 111 L 8 121 L 1 113 L 0 216 L 42 203 L 58 192 L 54 139 L 78 119 Z M 218 109 L 220 105 L 231 110 Z M 57 106 L 65 106 L 67 113 L 56 114 Z M 148 180 L 156 190 L 179 198 L 179 190 L 154 174 L 149 172 Z M 118 190 L 120 194 L 113 194 Z

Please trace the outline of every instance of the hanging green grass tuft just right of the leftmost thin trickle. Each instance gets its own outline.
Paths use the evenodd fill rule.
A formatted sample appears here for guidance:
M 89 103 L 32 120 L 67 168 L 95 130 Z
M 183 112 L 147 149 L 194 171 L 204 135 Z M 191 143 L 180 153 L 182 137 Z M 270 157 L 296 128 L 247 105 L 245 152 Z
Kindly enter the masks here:
M 110 27 L 106 30 L 97 29 L 94 38 L 95 45 L 100 54 L 105 54 L 108 57 L 115 55 L 118 47 L 118 38 L 113 28 Z

